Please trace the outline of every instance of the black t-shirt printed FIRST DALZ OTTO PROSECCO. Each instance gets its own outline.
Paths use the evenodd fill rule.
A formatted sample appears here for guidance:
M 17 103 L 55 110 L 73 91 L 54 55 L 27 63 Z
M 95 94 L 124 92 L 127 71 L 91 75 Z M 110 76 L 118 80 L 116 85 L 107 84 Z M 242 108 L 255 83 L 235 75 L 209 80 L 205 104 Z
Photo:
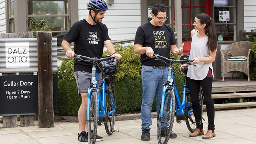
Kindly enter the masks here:
M 154 26 L 150 22 L 139 26 L 135 35 L 134 44 L 140 44 L 143 47 L 150 46 L 154 54 L 170 57 L 171 45 L 176 44 L 173 29 L 166 24 L 163 26 Z M 149 66 L 166 66 L 162 61 L 156 61 L 147 57 L 146 53 L 141 55 L 141 63 Z

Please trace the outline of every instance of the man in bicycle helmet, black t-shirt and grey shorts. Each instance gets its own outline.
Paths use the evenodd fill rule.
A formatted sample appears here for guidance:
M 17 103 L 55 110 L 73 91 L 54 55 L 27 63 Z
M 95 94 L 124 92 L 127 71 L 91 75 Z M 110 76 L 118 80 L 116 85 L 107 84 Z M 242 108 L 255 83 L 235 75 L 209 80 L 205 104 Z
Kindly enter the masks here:
M 108 28 L 102 24 L 102 19 L 108 5 L 104 0 L 89 0 L 87 4 L 89 16 L 79 20 L 70 28 L 69 33 L 64 37 L 61 46 L 66 52 L 67 57 L 74 57 L 80 54 L 87 57 L 102 57 L 104 44 L 108 54 L 115 59 L 120 59 L 121 55 L 115 53 L 115 48 L 109 38 Z M 70 43 L 74 42 L 74 51 L 70 48 Z M 87 113 L 87 92 L 91 83 L 92 63 L 74 61 L 74 76 L 78 87 L 78 93 L 82 97 L 82 103 L 78 111 L 79 133 L 78 141 L 82 144 L 88 142 L 88 122 Z M 101 83 L 102 73 L 97 69 L 98 83 Z M 97 135 L 96 141 L 103 140 Z

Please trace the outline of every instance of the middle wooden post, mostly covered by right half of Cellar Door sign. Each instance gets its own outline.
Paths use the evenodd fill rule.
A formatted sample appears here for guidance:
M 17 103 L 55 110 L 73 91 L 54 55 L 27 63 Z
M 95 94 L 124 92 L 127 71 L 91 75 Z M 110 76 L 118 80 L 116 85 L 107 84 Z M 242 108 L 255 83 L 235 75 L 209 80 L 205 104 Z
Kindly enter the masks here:
M 18 33 L 18 38 L 33 38 L 33 32 Z M 33 72 L 19 72 L 19 75 L 33 75 Z M 35 126 L 34 115 L 20 115 L 20 127 Z

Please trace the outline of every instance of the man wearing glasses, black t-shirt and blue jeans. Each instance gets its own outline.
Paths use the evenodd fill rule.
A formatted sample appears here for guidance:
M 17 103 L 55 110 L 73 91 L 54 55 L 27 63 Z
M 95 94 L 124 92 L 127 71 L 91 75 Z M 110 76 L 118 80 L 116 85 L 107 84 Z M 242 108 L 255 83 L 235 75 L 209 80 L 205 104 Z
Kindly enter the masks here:
M 142 104 L 141 104 L 141 140 L 150 140 L 150 127 L 152 125 L 151 109 L 156 95 L 158 113 L 163 84 L 167 79 L 168 66 L 162 61 L 156 61 L 150 57 L 153 54 L 160 54 L 170 57 L 170 51 L 174 55 L 181 55 L 183 46 L 177 48 L 173 29 L 167 26 L 166 8 L 162 4 L 155 4 L 152 7 L 152 20 L 139 26 L 135 35 L 134 52 L 141 55 L 141 78 L 142 78 Z M 163 131 L 167 129 L 167 122 L 161 126 Z M 175 133 L 171 133 L 170 138 L 176 138 Z

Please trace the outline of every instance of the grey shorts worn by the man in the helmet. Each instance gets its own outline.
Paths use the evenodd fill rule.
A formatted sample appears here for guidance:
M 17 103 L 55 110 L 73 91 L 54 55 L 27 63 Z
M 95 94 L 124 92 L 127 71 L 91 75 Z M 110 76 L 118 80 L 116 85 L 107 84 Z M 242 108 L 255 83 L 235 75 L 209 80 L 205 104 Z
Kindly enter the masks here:
M 77 71 L 74 72 L 78 94 L 87 93 L 91 85 L 91 72 Z M 101 85 L 102 72 L 97 73 L 98 85 Z

